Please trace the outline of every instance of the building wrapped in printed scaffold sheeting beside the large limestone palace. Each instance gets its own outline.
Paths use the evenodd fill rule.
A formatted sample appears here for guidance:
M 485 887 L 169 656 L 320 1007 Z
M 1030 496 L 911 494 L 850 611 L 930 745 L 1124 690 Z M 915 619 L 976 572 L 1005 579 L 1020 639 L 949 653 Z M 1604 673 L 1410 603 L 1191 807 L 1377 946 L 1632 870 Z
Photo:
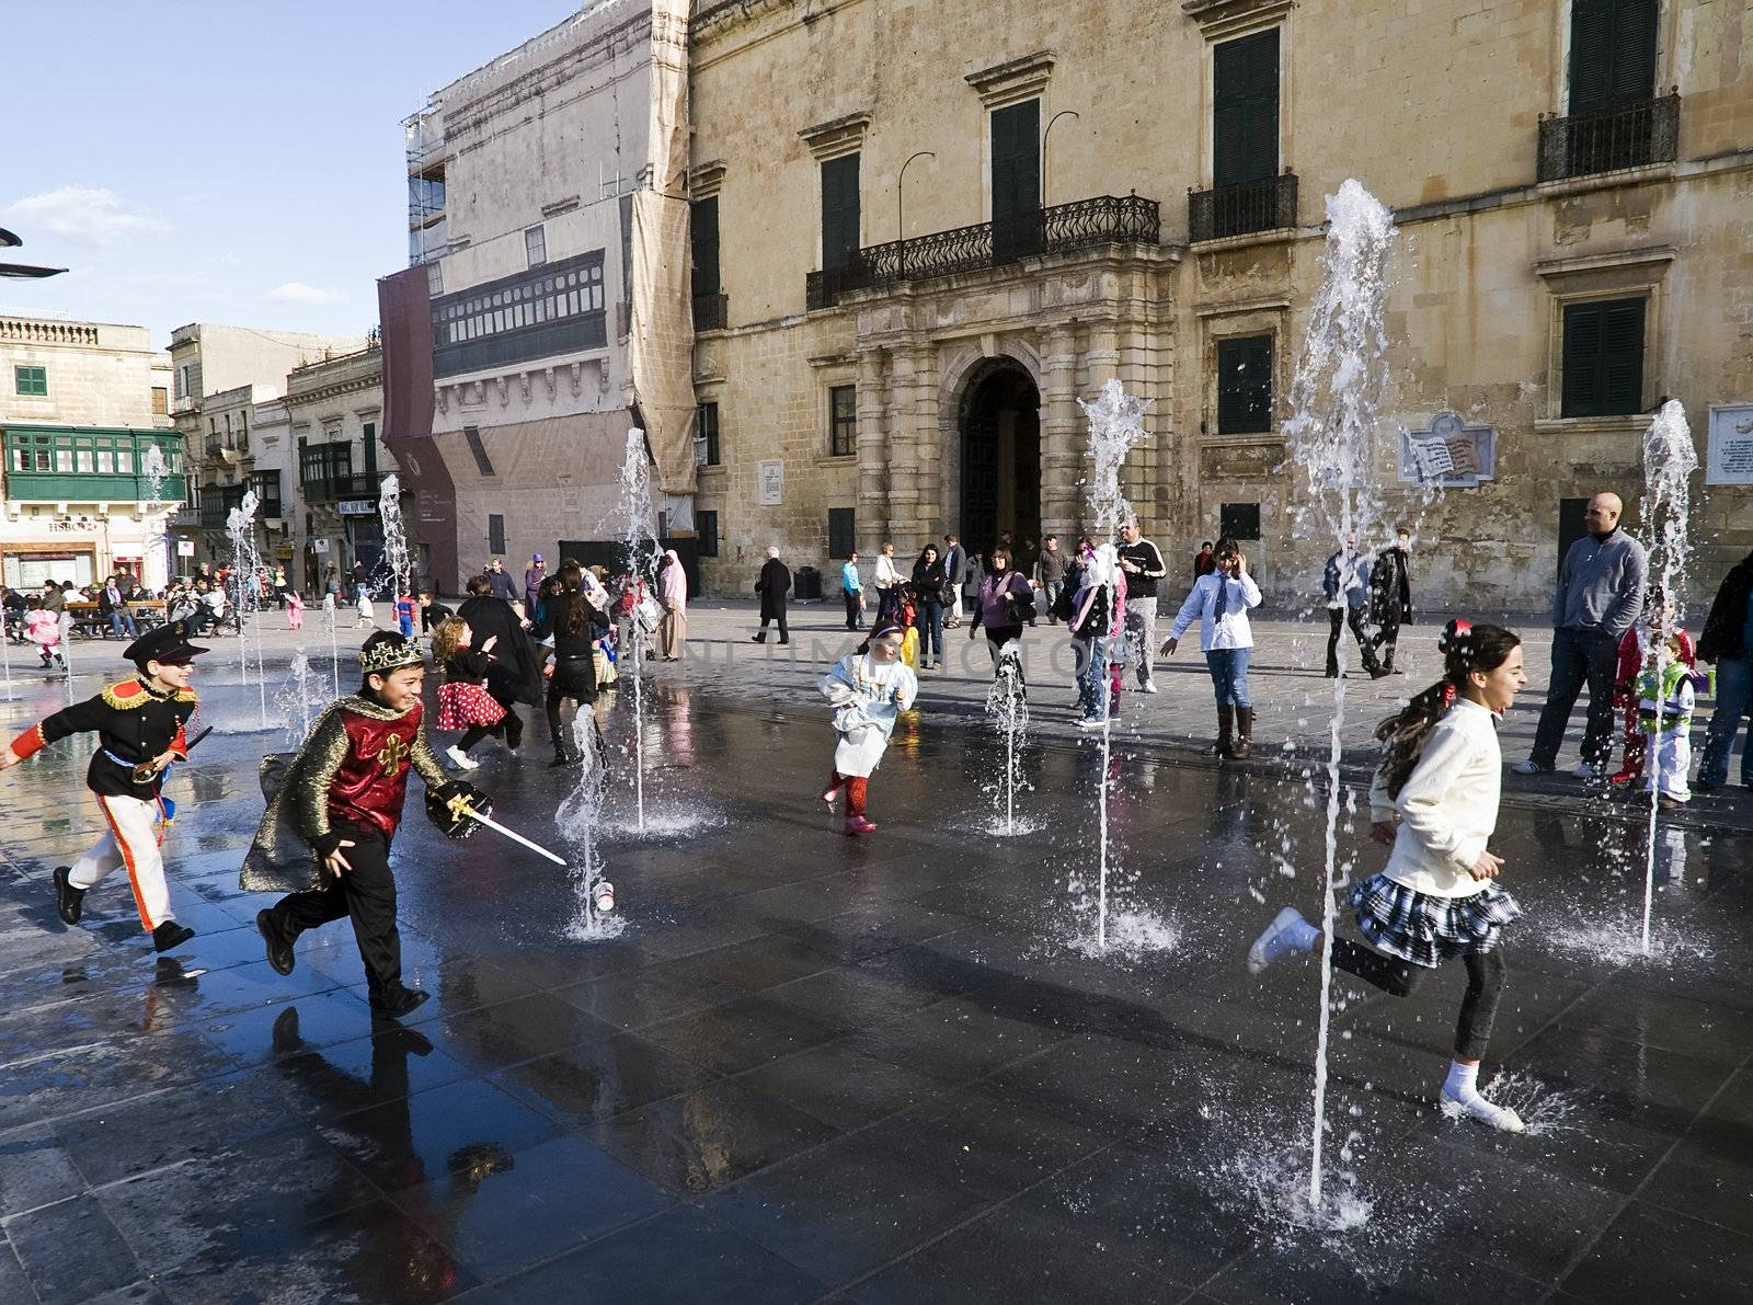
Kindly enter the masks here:
M 447 593 L 494 556 L 614 538 L 635 424 L 652 524 L 691 531 L 685 37 L 682 0 L 586 5 L 405 125 L 384 439 Z

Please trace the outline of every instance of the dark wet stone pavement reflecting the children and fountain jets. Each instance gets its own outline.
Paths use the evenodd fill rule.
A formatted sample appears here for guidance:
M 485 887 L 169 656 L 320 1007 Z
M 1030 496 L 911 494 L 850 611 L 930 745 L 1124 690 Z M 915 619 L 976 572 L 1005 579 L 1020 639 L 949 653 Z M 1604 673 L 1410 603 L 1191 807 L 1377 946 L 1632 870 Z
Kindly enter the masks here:
M 284 665 L 284 663 L 282 663 Z M 270 661 L 270 675 L 275 672 Z M 226 684 L 226 681 L 233 681 Z M 1434 1109 L 1458 968 L 1395 1002 L 1336 982 L 1327 1186 L 1306 1187 L 1318 977 L 1248 940 L 1320 905 L 1324 796 L 1124 735 L 1113 945 L 1092 947 L 1096 738 L 1024 747 L 1026 831 L 996 831 L 1001 749 L 903 724 L 864 840 L 817 789 L 801 695 L 650 691 L 610 831 L 621 937 L 564 937 L 575 884 L 417 800 L 396 842 L 410 982 L 375 1024 L 345 923 L 261 956 L 237 865 L 279 731 L 221 661 L 217 726 L 167 840 L 154 959 L 126 884 L 54 916 L 96 833 L 84 747 L 0 779 L 0 1301 L 1721 1301 L 1753 1294 L 1753 842 L 1509 805 L 1527 909 L 1485 1077 L 1523 1137 Z M 91 682 L 91 689 L 96 682 Z M 21 682 L 7 731 L 51 710 Z M 86 691 L 91 691 L 86 689 Z M 1057 707 L 1061 695 L 1043 695 Z M 570 777 L 489 745 L 475 782 L 559 842 Z M 417 796 L 417 784 L 415 784 Z M 1345 821 L 1359 874 L 1380 849 Z

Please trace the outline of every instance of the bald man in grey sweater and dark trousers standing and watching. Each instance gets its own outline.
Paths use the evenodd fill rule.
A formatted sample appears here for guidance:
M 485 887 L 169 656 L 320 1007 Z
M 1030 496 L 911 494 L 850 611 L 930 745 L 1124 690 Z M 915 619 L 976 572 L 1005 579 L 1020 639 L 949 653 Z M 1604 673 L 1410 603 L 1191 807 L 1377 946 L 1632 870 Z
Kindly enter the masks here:
M 1620 637 L 1643 612 L 1650 582 L 1650 560 L 1643 544 L 1620 530 L 1625 503 L 1618 495 L 1599 493 L 1583 514 L 1588 535 L 1576 540 L 1558 568 L 1558 593 L 1551 602 L 1551 679 L 1546 705 L 1534 731 L 1534 751 L 1515 770 L 1537 775 L 1558 767 L 1558 747 L 1571 723 L 1571 709 L 1588 684 L 1588 724 L 1583 730 L 1583 761 L 1576 777 L 1604 781 L 1613 749 L 1613 670 Z

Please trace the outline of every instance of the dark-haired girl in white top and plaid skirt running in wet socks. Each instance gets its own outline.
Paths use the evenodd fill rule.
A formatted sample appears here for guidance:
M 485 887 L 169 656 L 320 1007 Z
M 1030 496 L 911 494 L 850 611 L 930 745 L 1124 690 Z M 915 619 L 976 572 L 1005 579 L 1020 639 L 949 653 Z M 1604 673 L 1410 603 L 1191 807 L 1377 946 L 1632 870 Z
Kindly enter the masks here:
M 1497 719 L 1527 684 L 1522 640 L 1502 626 L 1450 621 L 1437 647 L 1443 679 L 1376 728 L 1385 747 L 1369 788 L 1371 837 L 1394 851 L 1387 868 L 1348 891 L 1369 947 L 1334 938 L 1332 963 L 1408 996 L 1430 970 L 1458 956 L 1467 995 L 1443 1080 L 1443 1112 L 1520 1133 L 1522 1117 L 1485 1100 L 1478 1077 L 1504 995 L 1502 928 L 1522 914 L 1495 882 L 1502 858 L 1487 851 L 1502 786 Z M 1320 942 L 1322 931 L 1285 907 L 1248 951 L 1248 970 L 1259 973 Z

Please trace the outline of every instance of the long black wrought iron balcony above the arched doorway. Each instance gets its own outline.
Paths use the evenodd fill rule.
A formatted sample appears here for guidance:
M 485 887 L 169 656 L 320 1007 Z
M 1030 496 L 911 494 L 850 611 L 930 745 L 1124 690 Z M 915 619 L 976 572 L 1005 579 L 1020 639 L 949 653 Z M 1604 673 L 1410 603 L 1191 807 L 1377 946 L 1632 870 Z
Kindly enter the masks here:
M 952 232 L 866 246 L 845 267 L 812 272 L 805 286 L 806 303 L 812 310 L 827 309 L 854 289 L 978 272 L 1034 254 L 1062 254 L 1122 242 L 1157 244 L 1160 226 L 1157 202 L 1138 195 L 1099 195 L 1057 203 Z

